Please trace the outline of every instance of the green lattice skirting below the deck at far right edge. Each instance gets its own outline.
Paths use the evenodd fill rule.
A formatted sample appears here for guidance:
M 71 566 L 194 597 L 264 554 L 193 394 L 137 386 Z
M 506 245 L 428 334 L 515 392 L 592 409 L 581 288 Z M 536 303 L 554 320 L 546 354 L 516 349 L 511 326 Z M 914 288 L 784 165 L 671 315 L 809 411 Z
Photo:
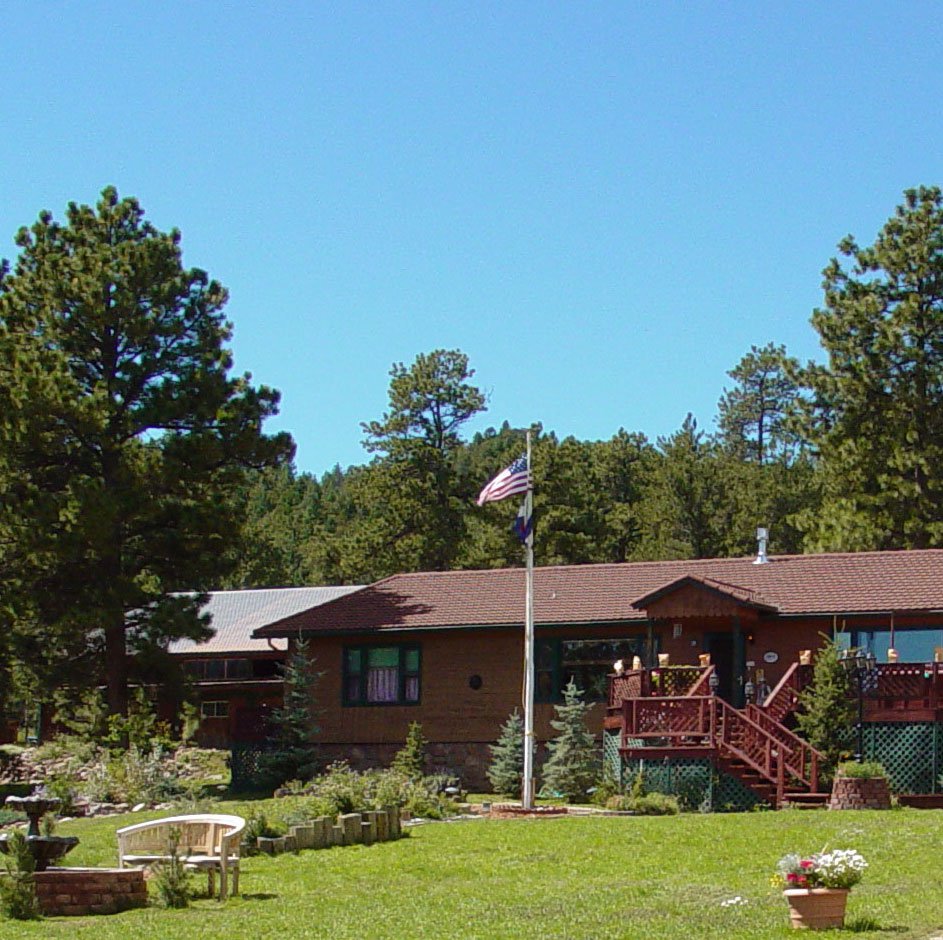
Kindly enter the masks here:
M 943 725 L 932 721 L 866 724 L 864 757 L 884 765 L 895 793 L 939 793 Z

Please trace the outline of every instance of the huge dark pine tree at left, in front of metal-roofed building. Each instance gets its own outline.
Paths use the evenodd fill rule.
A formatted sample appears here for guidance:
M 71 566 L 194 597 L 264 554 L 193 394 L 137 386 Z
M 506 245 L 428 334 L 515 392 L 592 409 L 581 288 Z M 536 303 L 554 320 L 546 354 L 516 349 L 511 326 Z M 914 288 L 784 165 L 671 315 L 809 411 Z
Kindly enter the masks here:
M 207 636 L 181 589 L 215 586 L 248 466 L 288 459 L 262 422 L 278 394 L 229 375 L 225 289 L 183 267 L 108 188 L 43 212 L 0 280 L 0 589 L 14 655 L 55 684 L 104 682 L 127 708 L 129 661 Z M 57 673 L 57 670 L 59 671 Z

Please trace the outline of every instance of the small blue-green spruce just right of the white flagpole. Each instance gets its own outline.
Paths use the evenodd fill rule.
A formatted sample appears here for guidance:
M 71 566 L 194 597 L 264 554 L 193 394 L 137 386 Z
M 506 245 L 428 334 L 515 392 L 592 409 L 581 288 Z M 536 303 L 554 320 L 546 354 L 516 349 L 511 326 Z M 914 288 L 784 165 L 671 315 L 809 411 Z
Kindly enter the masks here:
M 563 693 L 563 704 L 554 705 L 557 719 L 550 725 L 560 733 L 547 744 L 550 757 L 543 768 L 541 795 L 585 800 L 599 777 L 596 742 L 586 730 L 589 709 L 583 701 L 583 690 L 571 678 Z

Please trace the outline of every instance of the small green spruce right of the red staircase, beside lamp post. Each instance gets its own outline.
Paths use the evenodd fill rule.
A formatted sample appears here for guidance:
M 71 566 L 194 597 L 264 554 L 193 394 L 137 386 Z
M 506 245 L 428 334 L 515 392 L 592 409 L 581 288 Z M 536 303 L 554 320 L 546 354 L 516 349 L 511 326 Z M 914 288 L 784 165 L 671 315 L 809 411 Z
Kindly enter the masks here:
M 839 762 L 848 757 L 854 740 L 855 703 L 851 679 L 832 640 L 815 657 L 812 683 L 799 694 L 796 722 L 799 733 L 828 758 L 822 768 L 830 779 Z

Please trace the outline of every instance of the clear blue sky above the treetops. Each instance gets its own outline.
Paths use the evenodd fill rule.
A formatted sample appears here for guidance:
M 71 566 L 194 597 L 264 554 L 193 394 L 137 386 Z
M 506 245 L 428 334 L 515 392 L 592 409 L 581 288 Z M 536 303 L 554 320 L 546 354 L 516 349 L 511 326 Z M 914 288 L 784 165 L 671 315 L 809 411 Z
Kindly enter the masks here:
M 388 371 L 465 351 L 470 430 L 712 428 L 848 232 L 943 182 L 943 9 L 14 2 L 0 256 L 108 183 L 231 292 L 240 371 L 320 474 Z

